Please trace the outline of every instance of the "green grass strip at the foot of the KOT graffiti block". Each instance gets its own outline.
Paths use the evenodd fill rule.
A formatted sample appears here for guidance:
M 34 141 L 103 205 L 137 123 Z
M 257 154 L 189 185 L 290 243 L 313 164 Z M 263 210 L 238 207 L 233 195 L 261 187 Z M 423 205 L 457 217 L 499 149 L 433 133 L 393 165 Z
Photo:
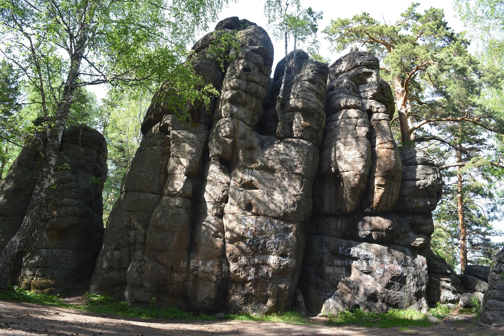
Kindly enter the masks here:
M 427 317 L 413 309 L 390 309 L 387 313 L 365 312 L 361 309 L 340 311 L 338 315 L 328 315 L 328 324 L 343 325 L 357 324 L 381 328 L 430 326 Z

